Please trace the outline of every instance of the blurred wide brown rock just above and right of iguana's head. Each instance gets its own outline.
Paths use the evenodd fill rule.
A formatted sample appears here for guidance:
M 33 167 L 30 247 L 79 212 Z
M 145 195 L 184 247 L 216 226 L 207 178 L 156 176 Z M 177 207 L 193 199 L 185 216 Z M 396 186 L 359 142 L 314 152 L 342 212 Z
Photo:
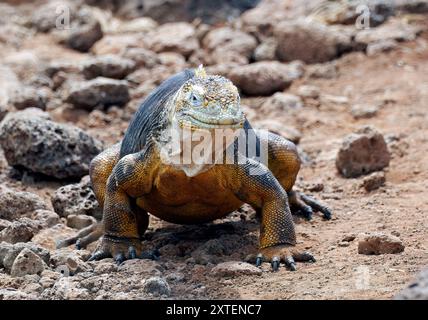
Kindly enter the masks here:
M 287 88 L 303 75 L 301 64 L 261 61 L 237 66 L 229 73 L 230 80 L 247 95 L 270 95 Z

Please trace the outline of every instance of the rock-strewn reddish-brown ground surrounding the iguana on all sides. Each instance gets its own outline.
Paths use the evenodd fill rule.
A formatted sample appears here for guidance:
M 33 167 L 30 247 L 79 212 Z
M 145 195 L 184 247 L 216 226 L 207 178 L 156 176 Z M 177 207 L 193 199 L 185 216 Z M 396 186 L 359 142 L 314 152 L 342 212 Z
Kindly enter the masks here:
M 258 2 L 0 2 L 0 300 L 428 299 L 428 2 Z M 199 64 L 298 144 L 298 189 L 334 214 L 295 217 L 317 262 L 247 263 L 248 206 L 201 226 L 151 217 L 155 261 L 57 249 L 101 218 L 90 160 Z

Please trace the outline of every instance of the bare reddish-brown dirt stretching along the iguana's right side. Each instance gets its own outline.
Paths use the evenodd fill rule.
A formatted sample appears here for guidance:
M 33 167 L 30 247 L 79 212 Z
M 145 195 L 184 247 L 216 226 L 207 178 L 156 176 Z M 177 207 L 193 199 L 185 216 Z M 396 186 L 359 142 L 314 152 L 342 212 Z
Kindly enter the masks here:
M 334 212 L 332 221 L 316 217 L 297 223 L 298 238 L 318 258 L 315 264 L 299 264 L 296 273 L 281 269 L 261 277 L 220 281 L 210 296 L 260 299 L 385 299 L 391 298 L 428 262 L 428 47 L 427 35 L 391 53 L 367 57 L 355 53 L 341 58 L 334 80 L 310 81 L 321 92 L 351 102 L 384 101 L 372 119 L 354 120 L 349 107 L 339 105 L 306 108 L 300 116 L 300 147 L 316 155 L 304 166 L 300 180 L 322 182 L 317 194 Z M 298 86 L 299 82 L 293 85 Z M 291 88 L 291 92 L 293 91 Z M 293 121 L 283 116 L 282 121 Z M 298 120 L 298 119 L 295 119 Z M 361 179 L 337 174 L 335 155 L 342 138 L 358 127 L 371 124 L 385 135 L 400 137 L 398 150 L 386 169 L 386 185 L 365 193 Z M 406 248 L 397 255 L 365 256 L 357 243 L 338 244 L 349 234 L 396 232 Z M 268 269 L 268 267 L 266 267 Z M 365 278 L 368 275 L 367 278 Z M 362 280 L 366 279 L 366 280 Z M 365 281 L 366 286 L 361 286 Z M 225 283 L 226 282 L 226 283 Z M 208 288 L 213 284 L 206 284 Z

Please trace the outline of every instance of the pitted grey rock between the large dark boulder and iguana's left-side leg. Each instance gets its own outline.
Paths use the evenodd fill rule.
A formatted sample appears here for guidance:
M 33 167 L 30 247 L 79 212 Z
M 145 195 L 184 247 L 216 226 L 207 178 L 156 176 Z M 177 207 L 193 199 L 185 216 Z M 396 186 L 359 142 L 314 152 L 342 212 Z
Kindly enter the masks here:
M 61 217 L 69 215 L 88 215 L 98 219 L 102 217 L 102 210 L 95 198 L 89 176 L 85 176 L 79 183 L 63 186 L 52 196 L 52 206 Z

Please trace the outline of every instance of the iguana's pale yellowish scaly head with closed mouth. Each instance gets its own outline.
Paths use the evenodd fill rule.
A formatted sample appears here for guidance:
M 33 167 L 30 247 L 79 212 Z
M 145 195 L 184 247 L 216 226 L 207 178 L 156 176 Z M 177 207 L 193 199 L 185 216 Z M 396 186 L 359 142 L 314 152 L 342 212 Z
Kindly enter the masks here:
M 207 75 L 202 66 L 178 90 L 173 107 L 179 126 L 191 130 L 238 129 L 245 120 L 238 89 L 222 76 Z

